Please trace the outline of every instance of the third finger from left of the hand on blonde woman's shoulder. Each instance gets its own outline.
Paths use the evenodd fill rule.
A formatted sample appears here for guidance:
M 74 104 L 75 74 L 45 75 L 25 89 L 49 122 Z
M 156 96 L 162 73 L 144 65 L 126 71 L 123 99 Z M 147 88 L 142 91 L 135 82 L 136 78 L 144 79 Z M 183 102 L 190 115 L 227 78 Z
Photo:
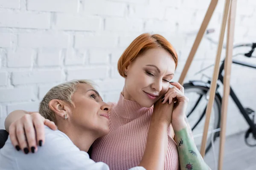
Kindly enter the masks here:
M 30 117 L 26 119 L 26 121 L 24 122 L 24 129 L 26 139 L 28 142 L 29 151 L 35 153 L 37 144 L 35 139 L 35 128 L 32 121 L 33 120 Z

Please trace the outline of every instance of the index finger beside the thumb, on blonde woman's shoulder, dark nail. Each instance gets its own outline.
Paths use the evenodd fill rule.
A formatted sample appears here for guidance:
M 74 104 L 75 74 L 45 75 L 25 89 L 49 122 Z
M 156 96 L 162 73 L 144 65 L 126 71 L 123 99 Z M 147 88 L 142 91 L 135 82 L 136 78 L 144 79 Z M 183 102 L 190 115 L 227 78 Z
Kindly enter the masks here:
M 43 146 L 45 136 L 44 136 L 44 120 L 42 121 L 42 116 L 38 114 L 35 117 L 33 117 L 33 123 L 36 131 L 37 144 L 39 146 Z

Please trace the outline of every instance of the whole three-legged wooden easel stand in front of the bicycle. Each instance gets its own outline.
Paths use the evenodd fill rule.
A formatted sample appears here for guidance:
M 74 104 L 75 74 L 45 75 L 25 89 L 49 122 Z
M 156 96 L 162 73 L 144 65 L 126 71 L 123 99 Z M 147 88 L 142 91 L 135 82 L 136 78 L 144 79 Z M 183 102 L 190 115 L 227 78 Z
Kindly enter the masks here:
M 212 13 L 215 10 L 215 7 L 218 3 L 218 0 L 212 0 L 208 10 L 205 14 L 204 20 L 201 24 L 201 27 L 198 31 L 197 37 L 195 42 L 192 46 L 192 49 L 189 53 L 189 57 L 186 61 L 186 64 L 183 68 L 181 73 L 179 83 L 183 84 L 183 81 L 186 77 L 186 74 L 189 70 L 191 62 L 195 56 L 195 53 L 198 49 L 198 46 L 202 40 L 204 32 L 208 26 L 209 20 L 212 17 Z M 221 60 L 221 50 L 224 40 L 224 34 L 227 24 L 227 50 L 226 50 L 226 59 L 224 63 L 224 95 L 222 98 L 222 106 L 221 106 L 221 135 L 220 135 L 220 150 L 219 150 L 219 160 L 218 160 L 218 170 L 222 170 L 223 165 L 223 153 L 224 153 L 224 143 L 225 143 L 225 133 L 226 133 L 226 124 L 227 124 L 227 105 L 228 105 L 228 97 L 230 94 L 230 72 L 231 72 L 231 63 L 232 63 L 232 51 L 233 51 L 233 38 L 234 38 L 234 27 L 235 27 L 235 17 L 236 17 L 236 0 L 225 0 L 225 7 L 224 13 L 222 18 L 222 25 L 221 25 L 221 32 L 219 36 L 218 42 L 218 50 L 215 59 L 215 67 L 212 76 L 212 82 L 210 87 L 210 95 L 209 95 L 209 102 L 207 105 L 206 110 L 206 119 L 204 124 L 204 133 L 202 138 L 201 144 L 201 155 L 204 157 L 205 154 L 205 147 L 207 141 L 207 133 L 209 128 L 209 120 L 211 116 L 212 106 L 215 98 L 215 91 L 217 86 L 217 79 L 218 79 L 218 72 L 219 72 L 219 65 Z M 228 20 L 227 20 L 228 18 Z

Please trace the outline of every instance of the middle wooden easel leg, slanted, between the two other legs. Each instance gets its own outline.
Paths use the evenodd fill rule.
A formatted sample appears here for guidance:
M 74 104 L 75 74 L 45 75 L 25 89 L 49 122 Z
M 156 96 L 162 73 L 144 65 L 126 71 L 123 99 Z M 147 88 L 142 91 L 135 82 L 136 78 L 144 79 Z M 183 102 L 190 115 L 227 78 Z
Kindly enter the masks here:
M 216 59 L 215 59 L 215 67 L 214 67 L 214 72 L 213 72 L 212 82 L 211 82 L 211 87 L 210 87 L 209 102 L 208 102 L 207 109 L 206 109 L 204 133 L 203 133 L 201 150 L 200 150 L 202 157 L 204 157 L 204 154 L 205 154 L 205 145 L 206 145 L 206 141 L 207 141 L 207 133 L 208 133 L 208 129 L 209 129 L 209 121 L 210 121 L 210 116 L 211 116 L 211 111 L 212 111 L 212 105 L 213 105 L 214 98 L 215 98 L 215 91 L 216 91 L 217 79 L 218 79 L 218 73 L 219 73 L 219 65 L 220 65 L 220 60 L 221 60 L 221 50 L 222 50 L 222 45 L 223 45 L 223 40 L 224 40 L 224 34 L 225 34 L 225 29 L 226 29 L 226 24 L 227 24 L 227 16 L 228 16 L 229 8 L 230 8 L 230 0 L 226 0 L 225 7 L 224 7 L 223 19 L 222 19 L 222 25 L 221 25 L 221 34 L 220 34 L 219 43 L 218 43 L 218 51 L 217 51 L 217 55 L 216 55 Z

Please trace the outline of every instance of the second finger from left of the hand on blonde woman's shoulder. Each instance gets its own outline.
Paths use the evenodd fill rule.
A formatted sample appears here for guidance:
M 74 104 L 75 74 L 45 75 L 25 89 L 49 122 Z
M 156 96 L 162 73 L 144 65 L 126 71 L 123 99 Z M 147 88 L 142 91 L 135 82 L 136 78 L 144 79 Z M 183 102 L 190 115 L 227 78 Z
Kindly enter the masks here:
M 20 148 L 25 154 L 29 153 L 28 144 L 26 142 L 26 136 L 24 131 L 24 126 L 21 122 L 18 122 L 16 125 L 16 135 L 20 145 Z

